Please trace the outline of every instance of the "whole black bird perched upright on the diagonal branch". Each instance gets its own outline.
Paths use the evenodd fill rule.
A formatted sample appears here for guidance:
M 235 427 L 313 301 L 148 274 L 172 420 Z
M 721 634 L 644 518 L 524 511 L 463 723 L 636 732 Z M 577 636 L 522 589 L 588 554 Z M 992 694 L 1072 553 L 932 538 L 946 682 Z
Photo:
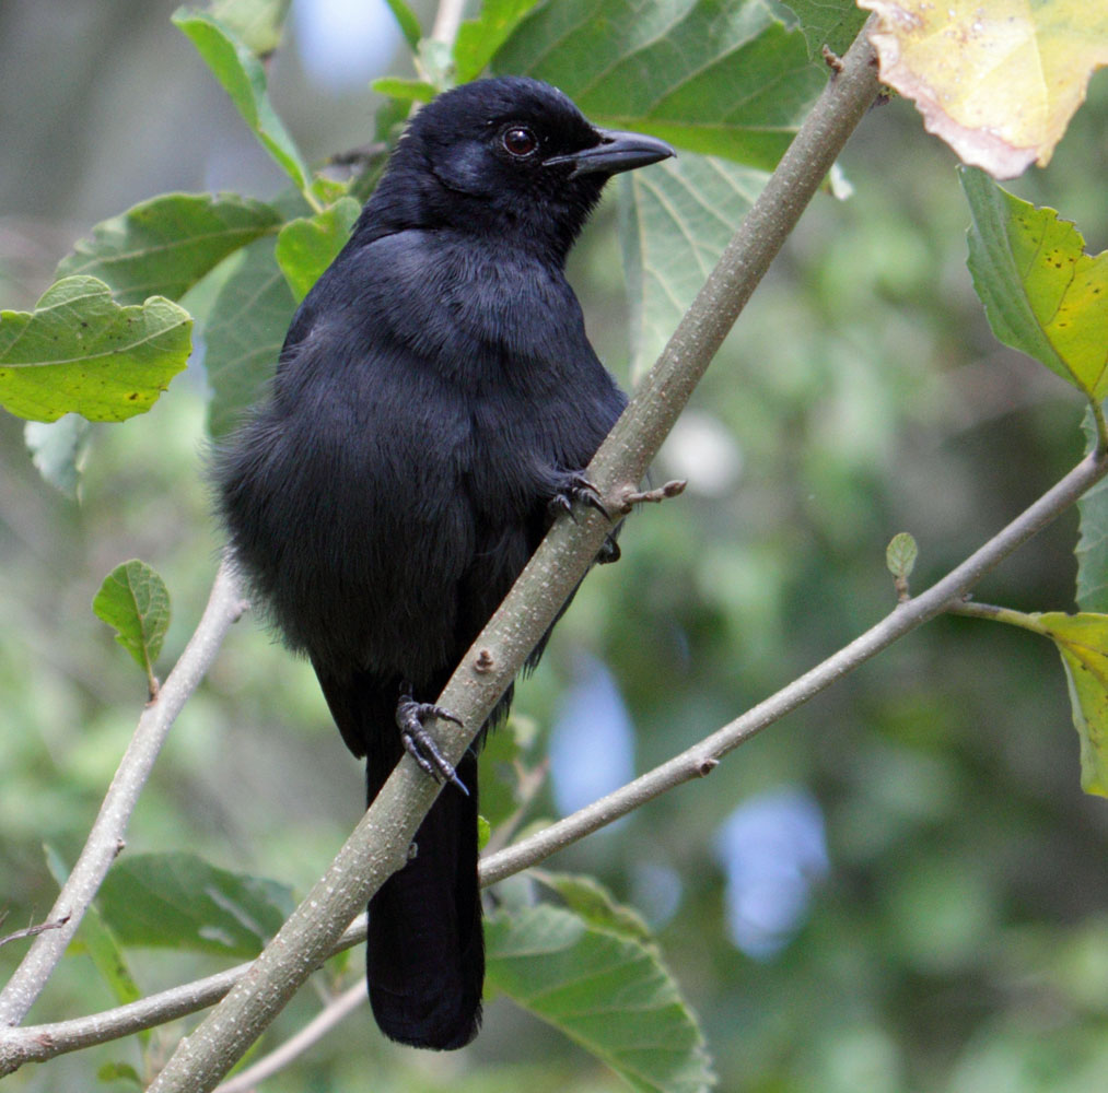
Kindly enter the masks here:
M 556 512 L 596 502 L 582 471 L 626 400 L 565 258 L 611 175 L 673 154 L 535 80 L 440 95 L 215 454 L 235 563 L 366 756 L 370 801 L 404 747 L 453 774 L 431 703 Z M 476 778 L 471 749 L 369 908 L 373 1013 L 414 1046 L 460 1048 L 481 1020 Z

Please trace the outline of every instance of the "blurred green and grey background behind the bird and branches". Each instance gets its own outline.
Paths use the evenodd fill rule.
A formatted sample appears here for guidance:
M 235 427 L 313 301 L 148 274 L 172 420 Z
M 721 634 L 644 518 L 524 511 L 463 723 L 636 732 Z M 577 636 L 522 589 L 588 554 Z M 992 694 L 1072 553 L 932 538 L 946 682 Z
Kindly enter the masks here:
M 29 308 L 96 221 L 167 190 L 281 185 L 164 0 L 0 4 L 0 307 Z M 414 4 L 424 27 L 430 4 Z M 294 0 L 273 61 L 309 159 L 372 134 L 368 81 L 403 73 L 382 3 Z M 694 743 L 875 622 L 884 548 L 909 530 L 925 587 L 1081 453 L 1078 396 L 992 337 L 965 269 L 953 155 L 911 104 L 875 109 L 740 320 L 659 458 L 683 498 L 636 515 L 595 570 L 516 714 L 551 778 L 533 816 L 587 803 Z M 1108 76 L 1054 162 L 1010 184 L 1108 247 Z M 605 204 L 571 279 L 627 385 L 626 305 Z M 205 380 L 100 426 L 80 504 L 0 416 L 0 909 L 39 920 L 43 843 L 78 853 L 144 701 L 90 604 L 119 563 L 165 578 L 162 671 L 195 626 L 218 540 L 204 484 Z M 1073 609 L 1076 514 L 977 598 Z M 133 850 L 192 849 L 304 888 L 357 821 L 361 775 L 310 670 L 250 619 L 181 715 L 131 825 Z M 1105 803 L 1078 785 L 1054 649 L 943 618 L 676 791 L 551 864 L 596 873 L 658 931 L 720 1087 L 759 1093 L 1094 1093 L 1108 1073 Z M 23 942 L 0 950 L 0 976 Z M 353 958 L 355 968 L 360 956 Z M 216 970 L 141 953 L 145 990 Z M 111 1004 L 66 958 L 33 1021 Z M 304 991 L 268 1043 L 317 1008 Z M 182 1028 L 155 1035 L 156 1061 Z M 13 1090 L 86 1090 L 136 1044 L 70 1055 Z M 100 1083 L 105 1090 L 122 1082 Z M 476 1043 L 428 1055 L 358 1012 L 274 1091 L 607 1091 L 618 1081 L 493 1001 Z M 133 1085 L 130 1086 L 133 1089 Z

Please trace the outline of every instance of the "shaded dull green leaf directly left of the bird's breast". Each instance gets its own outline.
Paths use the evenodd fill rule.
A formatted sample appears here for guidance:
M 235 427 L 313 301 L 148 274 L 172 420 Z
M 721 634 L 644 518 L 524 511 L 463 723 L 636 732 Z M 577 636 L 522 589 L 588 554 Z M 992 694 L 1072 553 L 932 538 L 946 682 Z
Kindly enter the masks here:
M 212 386 L 208 432 L 223 436 L 260 396 L 277 367 L 296 299 L 274 256 L 275 239 L 258 239 L 233 261 L 208 316 L 204 364 Z

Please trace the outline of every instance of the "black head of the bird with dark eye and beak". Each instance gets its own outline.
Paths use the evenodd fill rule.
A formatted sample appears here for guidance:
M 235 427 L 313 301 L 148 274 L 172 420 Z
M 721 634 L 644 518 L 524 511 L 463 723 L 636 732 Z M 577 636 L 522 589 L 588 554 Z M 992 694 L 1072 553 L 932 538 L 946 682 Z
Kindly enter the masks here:
M 478 80 L 412 118 L 366 220 L 473 231 L 561 260 L 612 175 L 671 155 L 655 137 L 598 128 L 550 84 Z

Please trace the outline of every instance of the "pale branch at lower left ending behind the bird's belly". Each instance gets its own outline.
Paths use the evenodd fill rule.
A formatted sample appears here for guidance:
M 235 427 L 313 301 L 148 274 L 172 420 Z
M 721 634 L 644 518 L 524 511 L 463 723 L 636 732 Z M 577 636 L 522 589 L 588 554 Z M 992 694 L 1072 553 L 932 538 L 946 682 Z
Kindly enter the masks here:
M 48 922 L 59 924 L 58 928 L 35 938 L 0 991 L 0 1028 L 23 1020 L 61 960 L 109 866 L 123 849 L 131 814 L 170 726 L 204 678 L 227 630 L 245 607 L 227 567 L 220 566 L 204 616 L 157 698 L 143 710 L 81 856 L 47 916 Z

